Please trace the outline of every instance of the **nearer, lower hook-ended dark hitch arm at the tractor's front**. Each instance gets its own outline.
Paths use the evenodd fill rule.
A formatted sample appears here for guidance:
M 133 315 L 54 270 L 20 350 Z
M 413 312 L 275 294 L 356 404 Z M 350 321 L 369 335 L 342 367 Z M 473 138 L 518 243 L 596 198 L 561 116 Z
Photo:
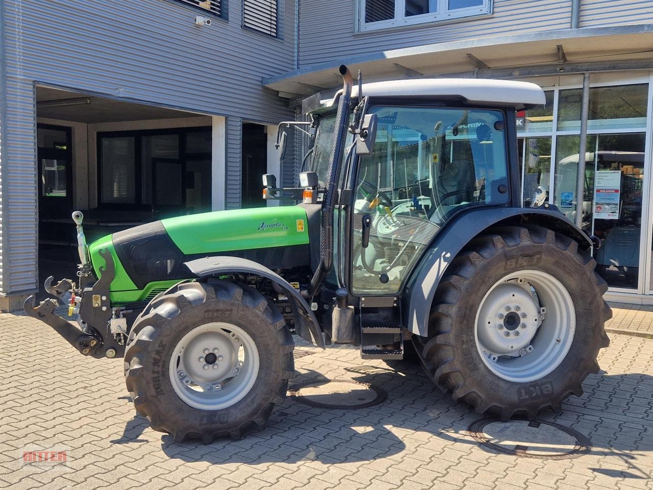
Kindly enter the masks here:
M 95 335 L 82 332 L 71 322 L 61 318 L 54 312 L 57 302 L 54 299 L 46 299 L 39 306 L 36 306 L 35 297 L 30 296 L 25 300 L 25 313 L 32 318 L 47 323 L 74 348 L 84 355 L 90 355 L 95 359 L 104 357 L 101 339 Z

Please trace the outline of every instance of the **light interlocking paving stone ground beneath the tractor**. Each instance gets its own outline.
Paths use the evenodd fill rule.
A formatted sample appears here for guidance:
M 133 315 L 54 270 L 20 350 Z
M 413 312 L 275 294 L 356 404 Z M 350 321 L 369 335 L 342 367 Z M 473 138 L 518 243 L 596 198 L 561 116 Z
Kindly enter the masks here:
M 653 312 L 616 308 L 611 325 L 653 331 Z M 82 357 L 43 323 L 0 314 L 0 488 L 653 490 L 653 340 L 609 336 L 582 397 L 540 417 L 584 434 L 591 449 L 533 459 L 480 446 L 468 427 L 483 417 L 421 368 L 306 344 L 293 385 L 354 380 L 387 399 L 357 410 L 287 399 L 243 440 L 174 444 L 135 415 L 121 360 Z M 32 444 L 67 449 L 68 465 L 21 467 Z

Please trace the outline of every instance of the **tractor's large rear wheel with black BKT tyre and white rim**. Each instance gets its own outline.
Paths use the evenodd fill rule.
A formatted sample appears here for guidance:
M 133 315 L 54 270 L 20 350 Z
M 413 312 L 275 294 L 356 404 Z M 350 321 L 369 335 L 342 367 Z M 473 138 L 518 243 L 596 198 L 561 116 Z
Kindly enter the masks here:
M 598 372 L 612 312 L 596 263 L 571 238 L 501 227 L 455 257 L 436 291 L 422 365 L 436 384 L 502 419 L 560 408 Z

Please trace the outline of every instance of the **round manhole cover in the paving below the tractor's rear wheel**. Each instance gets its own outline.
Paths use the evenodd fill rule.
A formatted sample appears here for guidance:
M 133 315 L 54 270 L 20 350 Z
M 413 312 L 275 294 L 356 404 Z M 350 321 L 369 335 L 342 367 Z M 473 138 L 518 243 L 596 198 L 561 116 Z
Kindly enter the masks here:
M 500 453 L 541 459 L 568 459 L 587 453 L 590 440 L 581 433 L 545 420 L 482 419 L 470 425 L 482 446 Z

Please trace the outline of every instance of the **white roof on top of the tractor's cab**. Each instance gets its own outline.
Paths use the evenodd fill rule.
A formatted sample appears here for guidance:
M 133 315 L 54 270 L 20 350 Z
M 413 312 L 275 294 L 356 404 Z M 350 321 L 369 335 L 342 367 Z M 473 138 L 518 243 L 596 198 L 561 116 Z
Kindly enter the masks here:
M 480 78 L 417 78 L 363 84 L 370 97 L 442 97 L 479 105 L 532 107 L 545 104 L 544 91 L 529 82 Z M 354 82 L 352 97 L 358 97 Z

